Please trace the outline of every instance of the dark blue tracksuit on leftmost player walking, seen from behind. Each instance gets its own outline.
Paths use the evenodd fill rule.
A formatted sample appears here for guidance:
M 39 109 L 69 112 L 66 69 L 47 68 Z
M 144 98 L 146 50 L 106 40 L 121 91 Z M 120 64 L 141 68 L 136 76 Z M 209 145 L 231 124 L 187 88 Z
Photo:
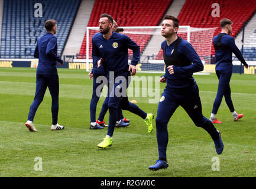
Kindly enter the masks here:
M 57 56 L 57 38 L 50 32 L 44 34 L 37 41 L 34 57 L 39 58 L 39 60 L 37 66 L 35 97 L 30 106 L 28 120 L 34 120 L 35 112 L 43 101 L 44 93 L 46 93 L 48 87 L 52 99 L 51 113 L 53 125 L 56 125 L 59 112 L 59 76 L 56 69 L 56 61 L 63 64 L 63 60 Z

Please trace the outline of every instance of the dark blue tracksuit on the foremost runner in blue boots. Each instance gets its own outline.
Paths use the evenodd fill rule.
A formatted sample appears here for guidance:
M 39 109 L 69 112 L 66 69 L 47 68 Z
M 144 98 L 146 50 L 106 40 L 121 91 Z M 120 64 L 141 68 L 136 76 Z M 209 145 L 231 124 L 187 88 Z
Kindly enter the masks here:
M 161 48 L 166 64 L 164 77 L 167 79 L 167 85 L 158 104 L 155 123 L 159 159 L 166 160 L 167 124 L 179 106 L 182 106 L 195 125 L 205 129 L 213 140 L 218 139 L 219 134 L 212 122 L 202 115 L 199 90 L 192 75 L 194 72 L 202 71 L 203 64 L 192 45 L 178 37 L 170 46 L 164 41 Z M 174 74 L 168 72 L 167 67 L 171 65 L 173 65 Z

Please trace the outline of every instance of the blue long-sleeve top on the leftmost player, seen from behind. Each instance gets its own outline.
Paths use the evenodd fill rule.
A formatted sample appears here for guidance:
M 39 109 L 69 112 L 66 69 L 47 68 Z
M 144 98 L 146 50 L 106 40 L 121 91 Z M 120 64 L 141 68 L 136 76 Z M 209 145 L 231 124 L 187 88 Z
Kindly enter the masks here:
M 57 38 L 47 32 L 37 41 L 34 57 L 39 58 L 37 74 L 57 74 L 56 61 L 63 64 L 57 56 Z

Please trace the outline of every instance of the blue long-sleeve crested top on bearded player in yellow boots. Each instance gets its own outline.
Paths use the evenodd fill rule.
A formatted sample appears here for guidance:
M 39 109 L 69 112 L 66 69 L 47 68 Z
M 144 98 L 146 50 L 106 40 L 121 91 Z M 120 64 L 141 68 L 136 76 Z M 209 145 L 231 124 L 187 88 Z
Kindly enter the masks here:
M 97 69 L 98 60 L 103 59 L 102 65 L 107 76 L 109 71 L 114 71 L 115 76 L 128 76 L 128 48 L 133 51 L 131 65 L 136 66 L 140 60 L 140 46 L 132 41 L 127 35 L 112 32 L 111 37 L 106 40 L 101 33 L 93 35 L 92 58 L 93 73 L 102 71 Z

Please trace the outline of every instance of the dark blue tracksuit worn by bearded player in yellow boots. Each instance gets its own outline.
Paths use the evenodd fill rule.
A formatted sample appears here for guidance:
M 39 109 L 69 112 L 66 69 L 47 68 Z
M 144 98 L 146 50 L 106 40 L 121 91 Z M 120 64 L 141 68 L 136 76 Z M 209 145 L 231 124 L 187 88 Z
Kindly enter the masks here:
M 140 60 L 140 47 L 134 43 L 127 35 L 118 34 L 113 32 L 111 37 L 106 40 L 101 33 L 93 35 L 92 39 L 92 57 L 93 64 L 97 64 L 100 58 L 103 59 L 103 68 L 109 82 L 109 126 L 107 135 L 112 136 L 115 129 L 116 120 L 118 120 L 118 109 L 121 107 L 123 110 L 135 113 L 142 119 L 147 118 L 147 113 L 143 112 L 137 105 L 129 102 L 127 95 L 116 95 L 115 90 L 120 87 L 121 91 L 127 88 L 128 77 L 128 48 L 133 51 L 132 65 L 136 66 Z M 96 66 L 96 65 L 95 65 Z M 114 80 L 111 80 L 110 72 L 114 73 Z M 118 81 L 118 76 L 123 80 Z M 122 86 L 124 85 L 124 88 Z M 118 88 L 116 88 L 118 87 Z M 126 90 L 125 90 L 126 91 Z

